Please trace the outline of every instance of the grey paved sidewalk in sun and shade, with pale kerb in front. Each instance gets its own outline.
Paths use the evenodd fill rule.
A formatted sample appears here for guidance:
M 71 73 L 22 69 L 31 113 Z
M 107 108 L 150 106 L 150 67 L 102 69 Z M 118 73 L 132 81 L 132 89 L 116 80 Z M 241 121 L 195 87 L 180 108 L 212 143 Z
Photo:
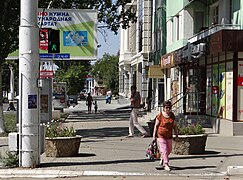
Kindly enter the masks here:
M 95 98 L 95 97 L 94 97 Z M 41 155 L 41 166 L 36 169 L 0 170 L 0 177 L 77 177 L 77 176 L 163 176 L 212 179 L 243 174 L 243 137 L 226 137 L 209 134 L 206 153 L 203 155 L 170 156 L 171 172 L 157 170 L 159 160 L 148 160 L 145 151 L 152 138 L 135 138 L 128 134 L 128 104 L 113 100 L 105 104 L 98 99 L 98 114 L 87 114 L 84 101 L 73 108 L 67 119 L 82 141 L 78 157 L 52 158 Z M 117 110 L 118 108 L 118 110 Z M 146 120 L 141 124 L 148 129 Z M 2 146 L 6 142 L 0 139 Z M 2 148 L 0 146 L 0 148 Z M 230 166 L 232 166 L 230 168 Z

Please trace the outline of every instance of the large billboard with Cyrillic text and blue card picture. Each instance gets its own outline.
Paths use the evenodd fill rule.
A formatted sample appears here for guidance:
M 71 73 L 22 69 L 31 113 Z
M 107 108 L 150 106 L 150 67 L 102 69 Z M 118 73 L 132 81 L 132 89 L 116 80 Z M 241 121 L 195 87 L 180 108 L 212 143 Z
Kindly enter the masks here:
M 91 9 L 38 9 L 38 26 L 41 58 L 51 59 L 48 54 L 48 28 L 59 30 L 60 53 L 56 60 L 96 60 L 97 59 L 98 13 Z M 19 51 L 9 55 L 18 59 Z

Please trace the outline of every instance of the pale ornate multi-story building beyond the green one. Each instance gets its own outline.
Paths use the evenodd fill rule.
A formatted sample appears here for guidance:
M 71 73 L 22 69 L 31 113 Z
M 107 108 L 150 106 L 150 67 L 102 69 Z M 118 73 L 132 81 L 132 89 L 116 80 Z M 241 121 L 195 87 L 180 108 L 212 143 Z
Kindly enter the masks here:
M 133 0 L 126 5 L 137 14 L 137 22 L 121 30 L 119 57 L 119 94 L 130 96 L 136 85 L 143 102 L 148 97 L 147 67 L 151 53 L 151 0 Z

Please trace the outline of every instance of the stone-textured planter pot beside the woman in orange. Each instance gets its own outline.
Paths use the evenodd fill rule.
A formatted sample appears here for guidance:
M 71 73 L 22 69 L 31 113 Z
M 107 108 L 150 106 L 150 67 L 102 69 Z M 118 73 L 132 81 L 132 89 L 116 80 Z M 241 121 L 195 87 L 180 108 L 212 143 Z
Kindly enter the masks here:
M 203 154 L 206 141 L 207 134 L 179 135 L 179 141 L 175 141 L 175 137 L 173 137 L 173 153 L 179 155 Z

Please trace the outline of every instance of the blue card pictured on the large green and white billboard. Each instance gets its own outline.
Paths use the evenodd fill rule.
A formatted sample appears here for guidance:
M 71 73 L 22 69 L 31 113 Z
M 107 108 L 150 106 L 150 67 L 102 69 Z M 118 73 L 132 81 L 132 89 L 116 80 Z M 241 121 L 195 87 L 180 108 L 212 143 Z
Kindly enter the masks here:
M 63 31 L 64 46 L 87 46 L 88 32 L 87 31 Z

